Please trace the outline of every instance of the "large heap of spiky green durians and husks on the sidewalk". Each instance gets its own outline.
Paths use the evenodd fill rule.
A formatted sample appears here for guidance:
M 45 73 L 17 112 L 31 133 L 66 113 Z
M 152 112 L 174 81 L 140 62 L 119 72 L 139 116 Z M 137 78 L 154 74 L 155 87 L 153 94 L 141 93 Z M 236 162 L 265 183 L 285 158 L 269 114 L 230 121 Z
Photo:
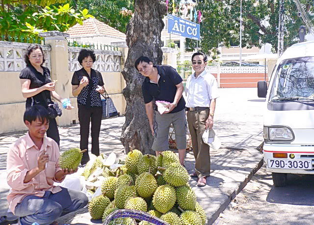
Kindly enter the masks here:
M 148 212 L 169 225 L 206 224 L 205 211 L 176 153 L 168 150 L 156 157 L 132 150 L 116 166 L 104 162 L 105 155 L 101 154 L 86 165 L 82 174 L 88 181 L 87 193 L 93 196 L 88 205 L 92 219 L 104 221 L 115 210 L 133 209 Z M 122 225 L 136 225 L 131 218 L 119 220 Z M 139 225 L 151 224 L 142 221 Z

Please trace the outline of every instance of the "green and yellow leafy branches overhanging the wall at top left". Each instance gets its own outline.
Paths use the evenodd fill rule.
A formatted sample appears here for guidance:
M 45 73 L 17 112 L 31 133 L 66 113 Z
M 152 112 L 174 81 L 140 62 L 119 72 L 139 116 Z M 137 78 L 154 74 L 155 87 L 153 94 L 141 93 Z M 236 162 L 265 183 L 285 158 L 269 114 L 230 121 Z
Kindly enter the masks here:
M 60 2 L 59 0 L 58 2 Z M 32 2 L 32 1 L 31 1 Z M 57 2 L 45 1 L 45 3 Z M 23 42 L 32 40 L 39 32 L 58 30 L 67 31 L 71 26 L 92 17 L 87 9 L 76 12 L 69 3 L 64 5 L 2 4 L 0 11 L 0 34 L 4 40 L 14 39 Z M 44 1 L 38 1 L 44 4 Z M 12 38 L 10 38 L 12 37 Z

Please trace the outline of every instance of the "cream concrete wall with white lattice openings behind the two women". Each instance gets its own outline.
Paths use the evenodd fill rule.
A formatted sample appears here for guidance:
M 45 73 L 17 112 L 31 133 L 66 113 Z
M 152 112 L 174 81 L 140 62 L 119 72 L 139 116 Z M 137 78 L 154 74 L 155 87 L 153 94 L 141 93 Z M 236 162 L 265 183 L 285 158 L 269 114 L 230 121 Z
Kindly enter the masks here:
M 62 116 L 57 117 L 58 125 L 78 123 L 77 98 L 72 96 L 71 80 L 75 70 L 79 69 L 77 54 L 79 48 L 68 48 L 66 34 L 56 31 L 41 34 L 45 37 L 47 62 L 45 66 L 51 70 L 52 79 L 57 79 L 56 92 L 62 98 L 70 98 L 72 110 L 62 110 Z M 109 43 L 110 44 L 110 43 Z M 26 99 L 23 98 L 20 84 L 20 71 L 25 68 L 24 50 L 28 44 L 0 42 L 0 133 L 26 130 L 23 122 Z M 124 48 L 120 48 L 124 53 Z M 122 95 L 125 81 L 121 74 L 121 51 L 94 50 L 97 56 L 98 70 L 102 73 L 105 89 L 112 98 L 120 115 L 125 113 L 126 101 Z M 124 56 L 126 57 L 126 55 Z M 75 68 L 72 70 L 72 68 Z M 56 102 L 56 101 L 55 101 Z M 60 105 L 60 103 L 59 103 Z

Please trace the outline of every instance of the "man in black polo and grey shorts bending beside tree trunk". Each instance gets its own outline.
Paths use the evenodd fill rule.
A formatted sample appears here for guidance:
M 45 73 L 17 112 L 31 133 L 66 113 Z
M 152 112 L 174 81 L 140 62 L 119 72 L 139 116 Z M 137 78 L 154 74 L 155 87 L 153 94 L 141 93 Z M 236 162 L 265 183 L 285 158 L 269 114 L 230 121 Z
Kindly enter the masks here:
M 181 76 L 171 66 L 154 66 L 146 56 L 136 59 L 134 67 L 145 76 L 142 84 L 142 93 L 146 114 L 152 135 L 155 137 L 152 149 L 156 155 L 169 149 L 169 128 L 172 124 L 176 133 L 176 143 L 179 150 L 180 163 L 184 165 L 186 149 L 185 134 L 185 101 L 182 97 L 183 83 Z M 157 133 L 154 131 L 154 101 L 170 102 L 168 110 L 160 115 L 155 111 Z

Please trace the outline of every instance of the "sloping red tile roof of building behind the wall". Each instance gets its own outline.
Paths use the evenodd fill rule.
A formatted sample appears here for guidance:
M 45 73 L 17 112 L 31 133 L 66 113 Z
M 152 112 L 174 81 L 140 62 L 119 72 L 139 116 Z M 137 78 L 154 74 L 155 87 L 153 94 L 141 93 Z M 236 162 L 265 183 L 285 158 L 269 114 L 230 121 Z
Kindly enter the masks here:
M 106 35 L 126 38 L 124 33 L 94 18 L 84 20 L 83 25 L 76 24 L 72 26 L 66 33 L 70 34 L 70 37 Z

